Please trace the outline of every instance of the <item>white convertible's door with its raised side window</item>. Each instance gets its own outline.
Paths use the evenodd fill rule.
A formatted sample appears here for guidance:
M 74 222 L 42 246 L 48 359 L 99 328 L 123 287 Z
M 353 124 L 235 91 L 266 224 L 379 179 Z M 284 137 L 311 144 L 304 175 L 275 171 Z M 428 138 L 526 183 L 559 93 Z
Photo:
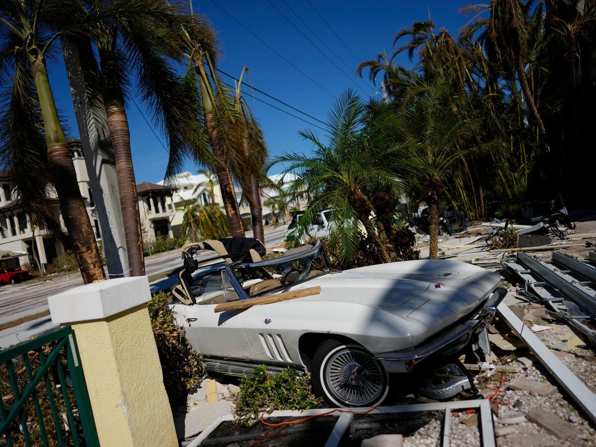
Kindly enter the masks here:
M 197 304 L 177 305 L 173 308 L 182 314 L 177 319 L 184 326 L 190 343 L 203 355 L 252 359 L 253 350 L 244 335 L 244 313 L 239 310 L 215 312 L 218 303 L 224 302 L 220 297 L 235 294 L 228 273 L 223 270 L 194 278 L 194 281 L 202 281 L 204 284 L 203 293 L 197 296 L 197 299 L 203 299 Z M 221 291 L 221 296 L 218 291 Z

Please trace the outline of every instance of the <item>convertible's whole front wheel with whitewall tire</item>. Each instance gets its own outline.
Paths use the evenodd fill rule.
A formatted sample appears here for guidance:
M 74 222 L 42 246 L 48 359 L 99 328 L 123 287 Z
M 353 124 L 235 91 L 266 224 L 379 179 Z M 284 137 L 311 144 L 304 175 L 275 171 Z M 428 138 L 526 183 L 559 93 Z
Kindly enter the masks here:
M 374 406 L 389 392 L 383 365 L 358 344 L 325 340 L 312 359 L 312 386 L 333 406 Z

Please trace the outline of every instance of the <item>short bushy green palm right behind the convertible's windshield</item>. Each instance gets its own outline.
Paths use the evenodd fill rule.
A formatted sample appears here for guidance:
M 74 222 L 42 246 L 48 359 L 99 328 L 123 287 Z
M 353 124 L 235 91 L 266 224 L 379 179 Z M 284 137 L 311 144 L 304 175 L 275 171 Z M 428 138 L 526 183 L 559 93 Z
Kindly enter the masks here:
M 297 172 L 296 181 L 281 190 L 279 212 L 296 203 L 307 203 L 304 215 L 288 235 L 290 246 L 302 244 L 311 222 L 323 210 L 330 209 L 331 240 L 340 247 L 342 261 L 354 256 L 364 237 L 358 222 L 383 262 L 392 261 L 375 226 L 373 195 L 379 190 L 401 190 L 401 182 L 383 167 L 391 157 L 392 147 L 378 140 L 377 132 L 363 128 L 365 111 L 365 104 L 357 95 L 345 92 L 328 114 L 327 145 L 313 132 L 302 131 L 302 138 L 313 145 L 313 156 L 287 153 L 270 163 L 269 166 L 284 163 L 284 175 Z

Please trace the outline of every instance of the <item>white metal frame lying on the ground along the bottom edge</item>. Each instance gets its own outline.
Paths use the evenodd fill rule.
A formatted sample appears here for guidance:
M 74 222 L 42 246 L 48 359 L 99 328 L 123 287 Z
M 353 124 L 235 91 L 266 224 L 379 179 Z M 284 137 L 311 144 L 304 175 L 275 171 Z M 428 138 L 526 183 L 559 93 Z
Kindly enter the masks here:
M 511 312 L 511 311 L 510 311 Z M 379 406 L 374 408 L 341 408 L 337 409 L 340 416 L 331 430 L 331 434 L 325 443 L 325 447 L 337 447 L 342 442 L 346 432 L 352 422 L 354 414 L 396 414 L 418 411 L 445 411 L 443 432 L 440 439 L 442 447 L 449 447 L 451 440 L 451 412 L 456 409 L 479 409 L 479 428 L 480 442 L 483 447 L 495 447 L 495 432 L 492 421 L 491 403 L 487 399 L 477 399 L 475 401 L 458 402 L 436 402 L 436 403 L 418 403 L 415 405 L 395 405 Z M 271 414 L 263 415 L 263 419 L 293 417 L 302 418 L 315 415 L 330 414 L 330 409 L 309 409 L 304 411 L 274 411 Z M 331 413 L 334 414 L 334 413 Z M 231 414 L 218 417 L 213 423 L 196 437 L 187 447 L 200 446 L 204 440 L 209 439 L 209 435 L 224 421 L 233 421 L 235 418 Z

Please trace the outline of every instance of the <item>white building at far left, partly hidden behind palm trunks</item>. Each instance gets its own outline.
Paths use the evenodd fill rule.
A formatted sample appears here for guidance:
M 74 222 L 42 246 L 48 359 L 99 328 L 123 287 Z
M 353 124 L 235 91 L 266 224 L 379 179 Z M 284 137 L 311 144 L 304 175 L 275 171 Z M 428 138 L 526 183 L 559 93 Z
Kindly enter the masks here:
M 80 194 L 85 200 L 85 206 L 91 219 L 91 225 L 95 232 L 95 238 L 101 245 L 100 224 L 95 213 L 95 203 L 89 185 L 89 176 L 83 158 L 83 151 L 80 148 L 78 138 L 69 139 L 69 147 L 75 164 L 77 181 L 79 182 Z M 50 193 L 55 206 L 55 217 L 64 231 L 64 221 L 60 213 L 58 197 L 55 191 Z M 21 258 L 21 262 L 35 263 L 33 256 L 33 239 L 39 262 L 46 265 L 64 253 L 65 247 L 55 237 L 49 234 L 45 228 L 34 228 L 19 204 L 14 200 L 13 188 L 8 179 L 8 172 L 0 171 L 0 250 L 7 252 L 27 253 L 28 259 Z

